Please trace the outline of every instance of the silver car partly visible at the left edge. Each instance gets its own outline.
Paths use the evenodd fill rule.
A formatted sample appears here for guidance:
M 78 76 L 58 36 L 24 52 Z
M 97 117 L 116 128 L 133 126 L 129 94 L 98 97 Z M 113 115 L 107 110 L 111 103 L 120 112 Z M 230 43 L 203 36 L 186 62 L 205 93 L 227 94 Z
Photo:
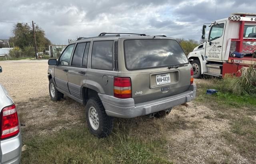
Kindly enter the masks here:
M 0 73 L 2 67 L 0 66 Z M 21 157 L 21 133 L 16 106 L 0 83 L 0 163 L 18 164 Z

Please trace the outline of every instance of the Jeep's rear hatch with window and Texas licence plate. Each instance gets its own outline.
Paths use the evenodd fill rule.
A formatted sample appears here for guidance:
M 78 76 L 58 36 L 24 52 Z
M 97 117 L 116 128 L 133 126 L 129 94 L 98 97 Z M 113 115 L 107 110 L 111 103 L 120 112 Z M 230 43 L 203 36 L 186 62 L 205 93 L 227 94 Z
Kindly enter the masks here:
M 124 60 L 128 71 L 120 74 L 131 78 L 135 103 L 188 91 L 191 65 L 176 40 L 124 40 Z

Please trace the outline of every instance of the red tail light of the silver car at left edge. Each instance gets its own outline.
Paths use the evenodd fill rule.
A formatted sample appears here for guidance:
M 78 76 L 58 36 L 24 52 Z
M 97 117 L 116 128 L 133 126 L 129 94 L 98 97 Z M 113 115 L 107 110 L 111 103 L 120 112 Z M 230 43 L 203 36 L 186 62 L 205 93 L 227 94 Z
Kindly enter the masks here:
M 19 119 L 16 111 L 16 106 L 11 105 L 5 107 L 1 112 L 1 139 L 8 138 L 18 134 L 19 129 Z

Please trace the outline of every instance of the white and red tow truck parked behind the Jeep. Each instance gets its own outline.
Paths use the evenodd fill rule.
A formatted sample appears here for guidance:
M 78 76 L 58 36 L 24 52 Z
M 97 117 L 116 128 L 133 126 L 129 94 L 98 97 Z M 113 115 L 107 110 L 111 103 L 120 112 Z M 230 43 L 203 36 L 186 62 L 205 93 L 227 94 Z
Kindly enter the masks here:
M 210 24 L 208 38 L 188 54 L 194 78 L 203 75 L 224 77 L 226 73 L 241 76 L 256 63 L 256 13 L 232 13 L 228 18 Z

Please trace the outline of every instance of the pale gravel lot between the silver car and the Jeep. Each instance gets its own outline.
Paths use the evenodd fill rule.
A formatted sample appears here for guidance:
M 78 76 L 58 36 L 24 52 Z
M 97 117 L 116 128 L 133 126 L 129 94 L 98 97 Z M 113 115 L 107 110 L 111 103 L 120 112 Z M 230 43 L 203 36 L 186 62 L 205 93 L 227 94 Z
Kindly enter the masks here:
M 49 95 L 48 60 L 0 61 L 3 72 L 0 82 L 14 102 Z

